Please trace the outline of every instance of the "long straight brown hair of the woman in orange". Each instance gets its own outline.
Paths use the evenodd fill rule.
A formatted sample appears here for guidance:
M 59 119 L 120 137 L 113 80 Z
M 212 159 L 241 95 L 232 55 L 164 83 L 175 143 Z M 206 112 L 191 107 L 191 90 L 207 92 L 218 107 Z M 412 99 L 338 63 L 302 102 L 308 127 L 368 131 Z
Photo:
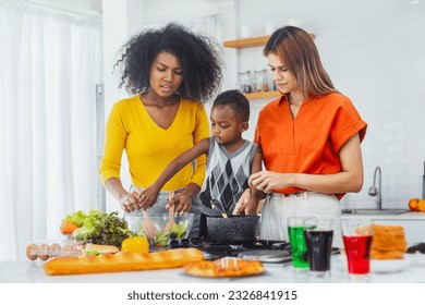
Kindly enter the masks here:
M 326 73 L 316 45 L 307 32 L 284 26 L 271 34 L 263 54 L 275 53 L 294 75 L 304 98 L 338 91 Z

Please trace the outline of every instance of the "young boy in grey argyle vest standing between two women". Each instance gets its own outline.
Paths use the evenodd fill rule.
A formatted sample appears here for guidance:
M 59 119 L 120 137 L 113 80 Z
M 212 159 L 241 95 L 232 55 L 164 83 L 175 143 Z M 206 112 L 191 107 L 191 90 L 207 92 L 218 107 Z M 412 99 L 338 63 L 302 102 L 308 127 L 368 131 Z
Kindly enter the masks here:
M 215 199 L 222 204 L 226 213 L 231 215 L 239 198 L 248 188 L 250 175 L 262 170 L 262 154 L 257 145 L 242 138 L 242 133 L 248 129 L 248 119 L 250 101 L 244 95 L 238 90 L 218 95 L 210 113 L 212 136 L 199 141 L 171 161 L 154 184 L 142 192 L 141 206 L 150 206 L 169 179 L 205 154 L 208 156 L 206 178 L 199 193 L 203 213 L 219 215 L 217 207 L 211 206 Z M 252 195 L 247 213 L 256 213 L 260 197 L 258 191 L 253 190 Z M 171 200 L 167 207 L 172 204 Z

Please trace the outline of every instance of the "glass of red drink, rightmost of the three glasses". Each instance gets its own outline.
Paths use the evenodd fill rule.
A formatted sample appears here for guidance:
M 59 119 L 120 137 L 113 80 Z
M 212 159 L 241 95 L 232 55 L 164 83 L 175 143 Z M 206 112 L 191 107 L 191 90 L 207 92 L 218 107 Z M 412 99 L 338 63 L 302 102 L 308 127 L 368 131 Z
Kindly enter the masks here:
M 341 219 L 349 276 L 353 280 L 367 278 L 371 272 L 372 224 L 372 219 Z

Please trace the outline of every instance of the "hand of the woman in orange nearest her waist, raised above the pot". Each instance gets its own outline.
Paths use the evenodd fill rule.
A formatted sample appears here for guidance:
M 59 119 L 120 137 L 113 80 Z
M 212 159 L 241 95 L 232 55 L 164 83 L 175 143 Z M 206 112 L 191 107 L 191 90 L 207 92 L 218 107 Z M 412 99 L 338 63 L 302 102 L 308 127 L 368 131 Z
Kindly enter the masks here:
M 259 171 L 250 176 L 248 184 L 266 194 L 269 194 L 272 190 L 290 186 L 289 179 L 290 174 Z

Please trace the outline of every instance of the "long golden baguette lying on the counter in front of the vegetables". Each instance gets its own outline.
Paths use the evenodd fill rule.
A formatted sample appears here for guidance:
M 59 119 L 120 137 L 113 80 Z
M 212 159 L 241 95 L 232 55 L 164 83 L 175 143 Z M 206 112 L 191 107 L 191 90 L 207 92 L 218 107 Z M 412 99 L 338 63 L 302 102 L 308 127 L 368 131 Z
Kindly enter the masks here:
M 203 260 L 196 248 L 178 248 L 156 253 L 118 252 L 116 254 L 56 257 L 45 264 L 48 276 L 139 271 L 183 267 Z

